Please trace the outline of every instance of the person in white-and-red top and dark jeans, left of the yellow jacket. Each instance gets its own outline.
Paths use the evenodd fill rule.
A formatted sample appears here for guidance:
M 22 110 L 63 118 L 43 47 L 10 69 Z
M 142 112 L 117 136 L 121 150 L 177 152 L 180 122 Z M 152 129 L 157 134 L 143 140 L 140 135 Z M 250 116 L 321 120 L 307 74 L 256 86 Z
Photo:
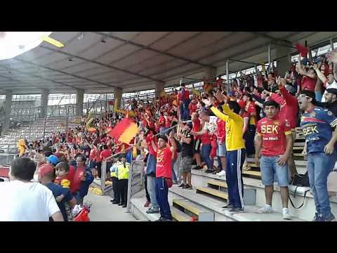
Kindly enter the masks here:
M 211 132 L 214 131 L 215 127 L 210 123 L 210 112 L 209 110 L 202 110 L 200 117 L 204 122 L 204 128 L 201 131 L 194 132 L 192 135 L 201 136 L 201 157 L 204 162 L 206 162 L 207 170 L 206 173 L 213 173 L 213 159 L 211 159 Z

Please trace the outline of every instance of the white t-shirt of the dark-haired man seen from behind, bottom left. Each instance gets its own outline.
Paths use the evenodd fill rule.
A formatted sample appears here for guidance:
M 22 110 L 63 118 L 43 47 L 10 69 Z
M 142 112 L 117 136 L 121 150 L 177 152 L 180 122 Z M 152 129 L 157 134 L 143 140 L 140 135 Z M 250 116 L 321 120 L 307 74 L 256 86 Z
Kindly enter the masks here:
M 56 212 L 53 193 L 41 183 L 0 183 L 0 221 L 49 221 Z

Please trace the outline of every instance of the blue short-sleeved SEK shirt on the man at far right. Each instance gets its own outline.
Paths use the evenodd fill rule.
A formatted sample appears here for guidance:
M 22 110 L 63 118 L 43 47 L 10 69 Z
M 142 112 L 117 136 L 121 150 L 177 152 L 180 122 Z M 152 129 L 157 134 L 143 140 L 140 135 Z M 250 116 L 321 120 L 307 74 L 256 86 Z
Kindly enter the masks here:
M 333 128 L 337 125 L 337 118 L 328 109 L 315 106 L 311 112 L 300 117 L 300 126 L 303 128 L 307 152 L 324 152 L 329 143 Z

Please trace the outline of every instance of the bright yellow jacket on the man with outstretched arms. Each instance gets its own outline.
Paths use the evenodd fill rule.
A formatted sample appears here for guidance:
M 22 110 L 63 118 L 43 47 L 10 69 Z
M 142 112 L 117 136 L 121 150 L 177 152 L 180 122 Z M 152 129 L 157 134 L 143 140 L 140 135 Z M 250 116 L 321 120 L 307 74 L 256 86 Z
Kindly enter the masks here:
M 226 149 L 227 151 L 240 150 L 245 148 L 242 129 L 244 119 L 240 115 L 232 112 L 227 104 L 223 105 L 223 112 L 212 106 L 211 111 L 226 122 Z

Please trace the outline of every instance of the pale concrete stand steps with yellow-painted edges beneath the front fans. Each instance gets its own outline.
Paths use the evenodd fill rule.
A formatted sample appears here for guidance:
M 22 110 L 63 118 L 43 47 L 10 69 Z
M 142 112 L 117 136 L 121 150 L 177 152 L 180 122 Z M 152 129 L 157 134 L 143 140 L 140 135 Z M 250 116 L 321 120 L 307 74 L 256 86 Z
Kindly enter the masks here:
M 296 160 L 296 169 L 299 174 L 306 171 L 305 157 L 301 154 L 304 146 L 304 137 L 300 129 L 297 129 L 297 137 L 293 146 Z M 226 205 L 227 183 L 225 176 L 206 174 L 201 170 L 192 169 L 192 190 L 178 188 L 173 185 L 169 188 L 169 203 L 171 213 L 175 221 L 286 221 L 282 219 L 282 202 L 279 186 L 275 183 L 275 193 L 272 199 L 272 214 L 256 214 L 256 209 L 265 205 L 264 186 L 260 180 L 260 168 L 254 164 L 253 159 L 248 160 L 249 169 L 242 171 L 244 181 L 244 212 L 230 213 L 223 209 Z M 310 192 L 304 198 L 304 193 L 310 188 L 289 186 L 289 192 L 293 204 L 300 209 L 295 209 L 289 202 L 289 210 L 292 221 L 311 221 L 315 215 L 315 201 Z M 294 195 L 296 191 L 296 195 Z M 331 212 L 337 214 L 337 197 L 331 197 Z M 145 193 L 131 199 L 131 212 L 143 221 L 159 219 L 159 214 L 146 214 L 147 208 Z M 206 216 L 201 216 L 206 214 Z

